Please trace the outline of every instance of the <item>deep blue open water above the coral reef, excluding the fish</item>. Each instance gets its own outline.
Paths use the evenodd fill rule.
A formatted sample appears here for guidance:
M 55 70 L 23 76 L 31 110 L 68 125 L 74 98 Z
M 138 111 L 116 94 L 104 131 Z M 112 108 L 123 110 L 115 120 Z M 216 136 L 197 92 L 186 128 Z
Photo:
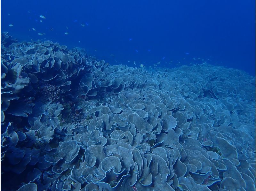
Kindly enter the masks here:
M 20 41 L 82 47 L 110 64 L 176 67 L 210 59 L 255 75 L 253 0 L 2 0 L 4 31 Z

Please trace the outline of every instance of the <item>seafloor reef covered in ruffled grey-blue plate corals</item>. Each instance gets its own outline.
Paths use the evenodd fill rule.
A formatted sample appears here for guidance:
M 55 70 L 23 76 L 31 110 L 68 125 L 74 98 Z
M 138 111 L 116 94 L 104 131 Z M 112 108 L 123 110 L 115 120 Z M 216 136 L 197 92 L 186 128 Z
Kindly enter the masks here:
M 2 190 L 255 190 L 255 77 L 146 70 L 1 34 Z

